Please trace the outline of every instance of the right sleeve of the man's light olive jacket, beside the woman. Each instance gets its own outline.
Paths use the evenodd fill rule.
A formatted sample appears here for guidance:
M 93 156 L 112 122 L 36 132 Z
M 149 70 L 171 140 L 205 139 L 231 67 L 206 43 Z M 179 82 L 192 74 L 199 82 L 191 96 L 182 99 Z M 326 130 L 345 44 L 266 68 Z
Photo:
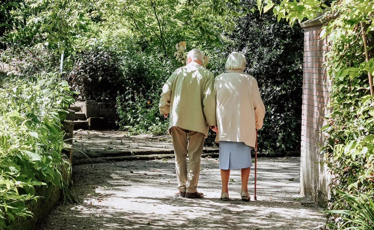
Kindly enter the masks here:
M 214 76 L 209 72 L 203 92 L 203 111 L 209 126 L 217 125 L 215 106 Z

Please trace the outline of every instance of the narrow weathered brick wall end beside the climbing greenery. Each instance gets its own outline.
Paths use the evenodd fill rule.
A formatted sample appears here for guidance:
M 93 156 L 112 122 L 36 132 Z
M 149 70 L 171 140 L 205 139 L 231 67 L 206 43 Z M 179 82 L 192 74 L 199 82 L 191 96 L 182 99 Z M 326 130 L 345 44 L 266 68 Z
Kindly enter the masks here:
M 324 135 L 326 108 L 329 100 L 328 79 L 324 62 L 324 44 L 319 33 L 321 23 L 303 23 L 304 28 L 304 75 L 303 108 L 301 127 L 300 195 L 311 198 L 320 205 L 326 205 L 329 198 L 328 184 L 331 180 L 323 164 L 321 146 Z

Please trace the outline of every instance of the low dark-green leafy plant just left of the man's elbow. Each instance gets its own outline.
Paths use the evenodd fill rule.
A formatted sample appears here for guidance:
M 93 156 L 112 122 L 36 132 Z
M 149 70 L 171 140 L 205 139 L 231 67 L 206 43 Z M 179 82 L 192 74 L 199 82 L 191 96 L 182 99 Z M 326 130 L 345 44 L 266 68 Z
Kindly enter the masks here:
M 138 94 L 131 89 L 125 95 L 117 96 L 117 113 L 120 128 L 131 134 L 151 132 L 153 135 L 165 134 L 169 128 L 168 120 L 159 112 L 160 89 L 151 94 Z

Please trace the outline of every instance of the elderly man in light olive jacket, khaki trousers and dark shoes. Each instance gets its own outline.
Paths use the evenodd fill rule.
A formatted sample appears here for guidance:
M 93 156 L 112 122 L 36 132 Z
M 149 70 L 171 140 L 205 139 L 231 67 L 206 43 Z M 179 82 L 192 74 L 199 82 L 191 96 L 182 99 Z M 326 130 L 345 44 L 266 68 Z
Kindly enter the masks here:
M 217 125 L 214 76 L 201 66 L 203 57 L 200 50 L 188 52 L 186 66 L 175 70 L 163 86 L 159 104 L 161 114 L 168 117 L 170 113 L 169 133 L 179 190 L 176 194 L 186 198 L 203 197 L 197 192 L 200 157 L 209 126 Z

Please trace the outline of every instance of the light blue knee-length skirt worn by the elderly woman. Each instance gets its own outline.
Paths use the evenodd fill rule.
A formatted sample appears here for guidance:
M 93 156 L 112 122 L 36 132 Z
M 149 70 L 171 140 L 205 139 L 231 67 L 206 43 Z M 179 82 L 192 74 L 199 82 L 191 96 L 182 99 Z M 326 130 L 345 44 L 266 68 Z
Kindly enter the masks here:
M 251 146 L 243 142 L 220 141 L 220 169 L 252 167 Z

